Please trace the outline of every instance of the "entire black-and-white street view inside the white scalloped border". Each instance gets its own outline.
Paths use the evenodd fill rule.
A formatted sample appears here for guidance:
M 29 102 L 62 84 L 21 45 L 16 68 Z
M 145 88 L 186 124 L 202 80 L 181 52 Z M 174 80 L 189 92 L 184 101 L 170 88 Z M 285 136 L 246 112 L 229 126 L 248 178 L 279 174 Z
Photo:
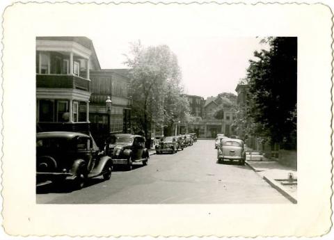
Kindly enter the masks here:
M 166 41 L 36 38 L 36 202 L 296 204 L 297 38 Z

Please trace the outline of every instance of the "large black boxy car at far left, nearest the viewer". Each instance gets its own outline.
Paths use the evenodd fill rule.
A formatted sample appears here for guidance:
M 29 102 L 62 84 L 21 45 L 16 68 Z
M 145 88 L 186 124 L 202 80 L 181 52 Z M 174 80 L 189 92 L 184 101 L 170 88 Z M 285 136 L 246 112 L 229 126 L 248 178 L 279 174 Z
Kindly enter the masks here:
M 81 189 L 86 179 L 102 175 L 110 179 L 113 161 L 104 156 L 86 134 L 67 131 L 40 132 L 36 138 L 37 186 L 70 180 Z

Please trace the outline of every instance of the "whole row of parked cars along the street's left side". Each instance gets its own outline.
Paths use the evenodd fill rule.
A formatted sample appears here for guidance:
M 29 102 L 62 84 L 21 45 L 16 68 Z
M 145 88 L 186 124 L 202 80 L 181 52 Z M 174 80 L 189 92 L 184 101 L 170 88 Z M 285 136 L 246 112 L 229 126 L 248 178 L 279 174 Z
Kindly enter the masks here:
M 189 135 L 162 138 L 158 152 L 177 152 L 193 145 L 197 138 Z M 172 144 L 170 144 L 172 143 Z M 150 158 L 145 138 L 134 134 L 114 134 L 106 139 L 104 149 L 86 134 L 50 131 L 40 132 L 36 138 L 36 184 L 70 182 L 73 189 L 81 189 L 86 180 L 102 176 L 110 179 L 115 166 L 132 170 L 132 164 L 148 164 Z

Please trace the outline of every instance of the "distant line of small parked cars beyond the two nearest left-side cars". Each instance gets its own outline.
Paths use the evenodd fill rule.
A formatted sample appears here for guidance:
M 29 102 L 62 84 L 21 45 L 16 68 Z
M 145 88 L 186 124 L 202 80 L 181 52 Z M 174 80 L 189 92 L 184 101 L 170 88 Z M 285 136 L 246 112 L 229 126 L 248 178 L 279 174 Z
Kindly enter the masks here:
M 184 150 L 185 147 L 193 145 L 197 141 L 196 134 L 184 134 L 177 136 L 165 136 L 159 139 L 157 145 L 155 145 L 155 151 L 157 154 L 163 152 L 171 152 L 172 154 L 178 150 Z

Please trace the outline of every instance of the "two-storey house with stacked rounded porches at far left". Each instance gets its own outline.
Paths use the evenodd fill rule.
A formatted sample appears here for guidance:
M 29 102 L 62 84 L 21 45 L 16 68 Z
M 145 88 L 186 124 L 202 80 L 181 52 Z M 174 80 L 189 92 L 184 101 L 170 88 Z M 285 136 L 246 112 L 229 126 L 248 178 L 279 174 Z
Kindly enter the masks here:
M 90 71 L 100 70 L 86 37 L 36 38 L 36 122 L 40 131 L 89 132 Z

